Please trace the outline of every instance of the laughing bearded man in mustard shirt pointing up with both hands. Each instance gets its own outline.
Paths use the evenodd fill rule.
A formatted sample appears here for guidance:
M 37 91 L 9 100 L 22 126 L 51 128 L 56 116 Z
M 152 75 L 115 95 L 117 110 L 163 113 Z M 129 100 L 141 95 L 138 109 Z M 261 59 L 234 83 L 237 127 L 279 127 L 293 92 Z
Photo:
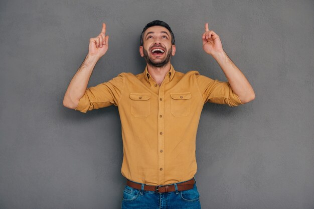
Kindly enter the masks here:
M 140 55 L 147 63 L 139 74 L 122 72 L 86 89 L 96 62 L 108 49 L 103 23 L 90 38 L 89 51 L 65 93 L 66 107 L 86 112 L 114 104 L 118 107 L 123 140 L 121 173 L 127 178 L 122 208 L 200 208 L 194 175 L 196 132 L 207 101 L 236 106 L 254 99 L 252 86 L 208 29 L 203 49 L 212 55 L 228 82 L 198 71 L 176 71 L 175 36 L 163 21 L 149 22 L 140 36 Z

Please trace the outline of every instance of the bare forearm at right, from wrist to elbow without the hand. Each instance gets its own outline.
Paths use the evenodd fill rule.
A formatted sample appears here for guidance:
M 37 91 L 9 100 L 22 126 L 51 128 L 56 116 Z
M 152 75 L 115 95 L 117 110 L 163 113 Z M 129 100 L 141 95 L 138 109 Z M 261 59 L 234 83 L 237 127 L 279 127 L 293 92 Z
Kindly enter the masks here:
M 213 54 L 225 73 L 232 90 L 239 96 L 242 103 L 255 98 L 254 90 L 241 70 L 233 63 L 225 51 Z

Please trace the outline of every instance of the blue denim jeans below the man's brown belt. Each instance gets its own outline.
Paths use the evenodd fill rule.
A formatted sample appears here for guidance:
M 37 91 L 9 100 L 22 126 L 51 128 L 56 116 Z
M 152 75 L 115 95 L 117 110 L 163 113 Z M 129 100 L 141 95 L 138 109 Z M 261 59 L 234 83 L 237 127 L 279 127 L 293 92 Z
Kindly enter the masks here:
M 144 183 L 141 184 L 141 189 L 136 189 L 125 185 L 121 205 L 122 209 L 201 208 L 200 194 L 197 190 L 196 183 L 194 184 L 193 188 L 184 191 L 178 191 L 177 183 L 171 183 L 175 185 L 176 191 L 164 193 L 158 193 L 156 191 L 145 191 L 143 190 Z

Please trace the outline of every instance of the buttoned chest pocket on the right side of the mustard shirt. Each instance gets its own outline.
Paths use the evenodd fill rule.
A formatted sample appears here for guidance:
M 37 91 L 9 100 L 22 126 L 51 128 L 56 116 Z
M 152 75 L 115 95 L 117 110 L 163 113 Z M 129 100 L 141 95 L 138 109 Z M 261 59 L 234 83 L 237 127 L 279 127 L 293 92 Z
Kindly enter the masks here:
M 187 116 L 191 108 L 191 92 L 170 93 L 171 113 L 174 116 Z

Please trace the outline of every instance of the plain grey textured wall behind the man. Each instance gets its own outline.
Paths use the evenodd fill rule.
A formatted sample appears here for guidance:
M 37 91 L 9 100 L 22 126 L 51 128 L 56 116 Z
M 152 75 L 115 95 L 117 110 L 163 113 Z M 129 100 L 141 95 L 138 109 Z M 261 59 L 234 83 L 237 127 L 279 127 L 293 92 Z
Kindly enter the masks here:
M 140 73 L 139 34 L 172 27 L 182 72 L 226 81 L 202 49 L 209 22 L 255 100 L 207 103 L 197 134 L 203 208 L 314 208 L 312 0 L 1 0 L 0 208 L 119 208 L 125 178 L 115 106 L 62 105 L 106 22 L 109 49 L 89 86 Z

